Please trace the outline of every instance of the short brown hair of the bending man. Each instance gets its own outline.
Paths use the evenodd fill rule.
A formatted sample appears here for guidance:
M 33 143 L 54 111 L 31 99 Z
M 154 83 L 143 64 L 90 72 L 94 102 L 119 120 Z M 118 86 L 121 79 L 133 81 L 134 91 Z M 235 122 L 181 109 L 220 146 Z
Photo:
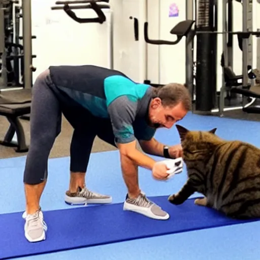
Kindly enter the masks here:
M 154 87 L 152 98 L 160 98 L 163 106 L 175 106 L 182 103 L 186 111 L 191 110 L 191 96 L 188 89 L 179 83 L 170 83 Z

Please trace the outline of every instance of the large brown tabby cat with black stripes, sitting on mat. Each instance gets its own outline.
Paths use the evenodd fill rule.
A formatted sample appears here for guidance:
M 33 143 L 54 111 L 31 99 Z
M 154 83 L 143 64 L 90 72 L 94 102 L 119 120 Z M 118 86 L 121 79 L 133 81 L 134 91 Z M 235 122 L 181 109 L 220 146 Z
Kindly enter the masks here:
M 260 217 L 260 149 L 240 141 L 225 141 L 211 131 L 189 131 L 176 125 L 188 179 L 168 200 L 182 204 L 198 191 L 195 204 L 238 218 Z

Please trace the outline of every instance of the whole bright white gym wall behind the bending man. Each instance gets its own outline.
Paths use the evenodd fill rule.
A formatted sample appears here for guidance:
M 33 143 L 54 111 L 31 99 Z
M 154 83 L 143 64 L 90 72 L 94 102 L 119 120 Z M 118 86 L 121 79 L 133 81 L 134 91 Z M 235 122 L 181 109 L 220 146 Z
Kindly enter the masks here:
M 150 39 L 174 41 L 170 30 L 185 20 L 184 0 L 110 0 L 111 10 L 104 9 L 107 21 L 103 24 L 79 24 L 62 10 L 51 10 L 55 0 L 32 0 L 32 52 L 37 55 L 34 80 L 50 65 L 96 64 L 110 68 L 110 42 L 113 47 L 113 68 L 135 81 L 149 79 L 153 83 L 185 82 L 185 38 L 177 45 L 151 45 L 144 42 L 144 22 L 148 21 Z M 221 2 L 219 1 L 218 30 L 222 30 Z M 260 4 L 253 0 L 254 26 L 260 28 Z M 146 13 L 147 3 L 147 13 Z M 176 4 L 178 16 L 169 17 L 171 4 Z M 242 30 L 242 5 L 234 3 L 234 30 Z M 257 4 L 256 4 L 257 3 Z M 258 10 L 258 11 L 257 11 Z M 79 17 L 96 17 L 93 10 L 74 10 Z M 147 15 L 147 16 L 146 16 Z M 139 41 L 134 38 L 134 20 L 139 20 Z M 111 26 L 113 24 L 113 26 Z M 113 41 L 110 29 L 113 27 Z M 196 38 L 194 39 L 196 52 Z M 146 55 L 147 48 L 147 55 Z M 253 41 L 253 67 L 256 66 L 256 39 Z M 221 86 L 220 57 L 222 36 L 218 35 L 217 89 Z M 259 54 L 260 55 L 260 54 Z M 196 58 L 196 55 L 194 55 Z M 147 60 L 147 63 L 146 63 Z M 234 36 L 234 71 L 242 73 L 242 52 Z M 146 75 L 147 72 L 147 75 Z

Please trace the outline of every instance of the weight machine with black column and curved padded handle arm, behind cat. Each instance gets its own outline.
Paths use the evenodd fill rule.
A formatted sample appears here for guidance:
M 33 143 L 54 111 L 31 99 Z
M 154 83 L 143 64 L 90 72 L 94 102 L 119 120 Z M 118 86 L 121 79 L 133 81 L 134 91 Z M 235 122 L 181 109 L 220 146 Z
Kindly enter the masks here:
M 260 107 L 253 107 L 255 99 L 260 98 L 260 90 L 249 83 L 255 79 L 252 72 L 252 36 L 259 37 L 259 30 L 252 30 L 252 3 L 250 0 L 242 1 L 243 28 L 233 31 L 233 1 L 222 1 L 222 31 L 217 28 L 218 1 L 217 0 L 186 0 L 186 20 L 179 22 L 171 31 L 177 36 L 174 42 L 164 40 L 150 40 L 148 37 L 148 22 L 144 24 L 145 42 L 156 45 L 178 44 L 182 37 L 186 37 L 186 82 L 193 97 L 194 113 L 212 114 L 218 112 L 223 116 L 226 110 L 242 109 L 247 113 L 260 113 Z M 259 2 L 258 2 L 259 3 Z M 195 17 L 194 17 L 195 15 Z M 228 17 L 228 18 L 227 18 Z M 132 17 L 130 17 L 132 18 Z M 193 27 L 194 25 L 194 27 Z M 193 27 L 193 28 L 192 28 Z M 135 40 L 138 41 L 138 20 L 134 22 Z M 217 96 L 217 36 L 222 35 L 222 86 Z M 237 35 L 239 46 L 243 52 L 242 75 L 233 72 L 233 36 Z M 197 58 L 194 62 L 194 36 L 197 36 Z M 258 44 L 260 40 L 257 41 Z M 260 49 L 260 46 L 257 46 Z M 260 53 L 260 52 L 259 52 Z M 260 65 L 260 57 L 258 57 Z M 152 86 L 161 84 L 144 83 Z M 242 94 L 243 105 L 240 107 L 224 107 L 225 94 Z M 195 98 L 194 98 L 195 96 Z M 244 96 L 250 99 L 245 104 Z

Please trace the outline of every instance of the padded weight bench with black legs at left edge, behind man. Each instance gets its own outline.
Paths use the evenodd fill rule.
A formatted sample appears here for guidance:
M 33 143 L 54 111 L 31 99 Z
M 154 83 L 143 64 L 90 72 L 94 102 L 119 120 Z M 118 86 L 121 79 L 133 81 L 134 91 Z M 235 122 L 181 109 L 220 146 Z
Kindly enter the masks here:
M 27 152 L 23 126 L 19 117 L 30 113 L 31 89 L 0 92 L 0 116 L 5 116 L 10 123 L 1 145 L 16 147 L 16 152 Z M 17 143 L 12 142 L 14 134 Z

